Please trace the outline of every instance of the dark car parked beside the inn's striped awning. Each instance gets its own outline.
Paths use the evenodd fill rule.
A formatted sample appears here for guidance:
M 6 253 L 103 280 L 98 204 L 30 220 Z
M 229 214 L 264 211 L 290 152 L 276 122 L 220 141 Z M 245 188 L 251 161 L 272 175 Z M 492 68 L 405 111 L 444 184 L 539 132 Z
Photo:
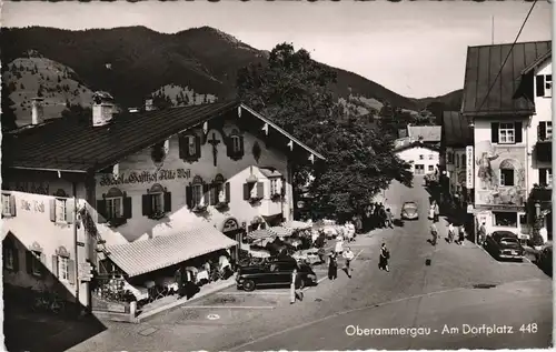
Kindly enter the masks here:
M 316 285 L 317 274 L 307 264 L 298 264 L 292 258 L 270 261 L 262 265 L 241 266 L 236 276 L 238 290 L 254 291 L 259 286 L 280 286 L 291 283 L 291 273 L 297 269 L 301 285 Z

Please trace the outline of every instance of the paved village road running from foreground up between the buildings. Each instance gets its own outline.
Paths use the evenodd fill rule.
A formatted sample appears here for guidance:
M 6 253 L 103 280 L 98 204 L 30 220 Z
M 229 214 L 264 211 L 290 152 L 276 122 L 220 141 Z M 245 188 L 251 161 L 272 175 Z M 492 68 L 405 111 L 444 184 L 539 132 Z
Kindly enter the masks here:
M 358 255 L 351 279 L 340 272 L 338 280 L 326 279 L 308 289 L 305 300 L 296 304 L 289 304 L 287 290 L 247 293 L 230 288 L 140 325 L 109 323 L 107 331 L 71 351 L 548 346 L 553 321 L 549 278 L 529 262 L 499 263 L 469 242 L 459 247 L 441 240 L 431 247 L 427 242 L 428 194 L 421 180 L 415 183 L 411 189 L 394 183 L 386 198 L 395 214 L 404 201 L 418 202 L 420 220 L 359 238 L 351 245 Z M 381 242 L 391 251 L 389 273 L 377 268 Z M 476 284 L 495 286 L 474 289 Z M 536 323 L 537 332 L 510 338 L 474 336 L 463 331 L 371 338 L 348 336 L 345 331 L 351 324 L 438 330 L 445 323 L 451 328 L 506 323 L 514 325 L 514 332 L 520 324 Z

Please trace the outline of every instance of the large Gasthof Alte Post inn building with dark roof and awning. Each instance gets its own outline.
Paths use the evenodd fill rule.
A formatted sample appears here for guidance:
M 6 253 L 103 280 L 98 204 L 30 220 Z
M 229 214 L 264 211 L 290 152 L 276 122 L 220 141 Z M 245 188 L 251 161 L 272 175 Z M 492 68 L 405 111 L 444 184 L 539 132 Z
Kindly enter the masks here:
M 81 265 L 132 281 L 234 247 L 292 220 L 292 165 L 322 159 L 239 102 L 116 115 L 99 98 L 89 121 L 33 122 L 3 135 L 3 282 L 85 306 Z

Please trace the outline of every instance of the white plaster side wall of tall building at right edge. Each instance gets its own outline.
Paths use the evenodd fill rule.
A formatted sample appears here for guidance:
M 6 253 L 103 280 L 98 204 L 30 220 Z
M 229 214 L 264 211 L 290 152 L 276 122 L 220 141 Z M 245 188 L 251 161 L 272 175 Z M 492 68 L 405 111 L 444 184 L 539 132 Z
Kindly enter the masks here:
M 535 72 L 537 74 L 552 74 L 552 60 L 548 60 L 544 64 L 542 64 L 538 70 Z M 552 121 L 552 99 L 537 97 L 536 84 L 534 84 L 534 97 L 535 97 L 535 114 L 532 117 L 529 121 L 529 128 L 527 130 L 527 159 L 529 163 L 528 169 L 528 190 L 533 189 L 535 183 L 539 181 L 539 170 L 545 168 L 552 168 L 550 162 L 540 162 L 535 158 L 535 144 L 538 140 L 537 129 L 540 121 Z M 554 87 L 553 87 L 554 91 Z M 554 124 L 553 124 L 554 127 Z

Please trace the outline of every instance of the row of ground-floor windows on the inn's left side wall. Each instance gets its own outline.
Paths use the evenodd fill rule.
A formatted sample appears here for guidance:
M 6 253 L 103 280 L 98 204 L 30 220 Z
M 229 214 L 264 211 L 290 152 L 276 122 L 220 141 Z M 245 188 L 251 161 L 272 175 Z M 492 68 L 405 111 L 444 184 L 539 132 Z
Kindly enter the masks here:
M 3 268 L 10 272 L 20 272 L 19 263 L 19 249 L 10 240 L 4 240 L 2 245 L 2 262 Z M 52 271 L 53 276 L 58 278 L 61 282 L 75 284 L 75 261 L 70 259 L 67 251 L 61 251 L 52 255 Z M 26 270 L 27 273 L 37 278 L 43 278 L 49 273 L 47 269 L 46 255 L 41 251 L 26 250 Z

